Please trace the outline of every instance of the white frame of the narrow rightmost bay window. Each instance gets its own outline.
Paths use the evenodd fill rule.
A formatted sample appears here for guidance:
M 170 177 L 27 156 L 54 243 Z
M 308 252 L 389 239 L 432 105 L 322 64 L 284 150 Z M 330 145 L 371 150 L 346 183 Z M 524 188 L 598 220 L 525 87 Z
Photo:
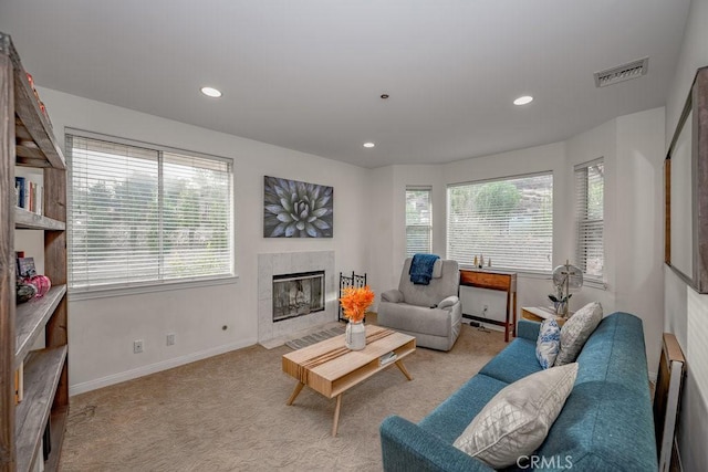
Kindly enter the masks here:
M 589 185 L 587 185 L 587 180 L 589 180 L 589 176 L 587 176 L 587 170 L 592 167 L 592 166 L 596 166 L 596 165 L 602 165 L 603 167 L 603 176 L 602 176 L 602 185 L 603 185 L 603 192 L 602 192 L 602 207 L 603 207 L 603 218 L 602 218 L 602 254 L 603 254 L 603 269 L 602 269 L 602 273 L 600 274 L 600 276 L 592 274 L 590 275 L 587 273 L 587 263 L 586 263 L 586 258 L 581 258 L 581 252 L 582 252 L 582 247 L 581 247 L 581 224 L 584 222 L 585 225 L 587 225 L 589 223 L 592 222 L 597 222 L 600 220 L 597 219 L 593 219 L 591 221 L 591 219 L 589 218 L 581 218 L 581 210 L 583 210 L 583 214 L 587 214 L 587 192 L 585 192 L 585 196 L 582 197 L 580 195 L 580 176 L 579 172 L 584 171 L 585 172 L 585 182 L 584 182 L 584 188 L 587 189 Z M 607 273 L 605 271 L 605 259 L 606 259 L 606 254 L 605 254 L 605 234 L 606 234 L 606 227 L 605 227 L 605 201 L 606 201 L 606 193 L 605 193 L 605 159 L 604 157 L 598 157 L 596 159 L 593 160 L 589 160 L 586 162 L 581 162 L 577 164 L 575 166 L 573 166 L 573 217 L 574 217 L 574 253 L 575 253 L 575 264 L 577 264 L 577 266 L 583 271 L 583 284 L 590 285 L 590 286 L 594 286 L 597 289 L 606 289 L 606 280 L 607 280 Z M 584 207 L 581 208 L 581 199 L 583 199 L 584 201 Z M 586 245 L 585 245 L 586 247 Z M 586 250 L 585 250 L 586 251 Z

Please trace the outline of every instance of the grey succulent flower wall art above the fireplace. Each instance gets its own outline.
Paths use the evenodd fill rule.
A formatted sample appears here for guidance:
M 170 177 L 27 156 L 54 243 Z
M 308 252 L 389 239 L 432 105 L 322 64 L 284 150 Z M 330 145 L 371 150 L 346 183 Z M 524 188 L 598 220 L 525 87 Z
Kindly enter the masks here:
M 264 177 L 264 238 L 332 238 L 334 189 Z

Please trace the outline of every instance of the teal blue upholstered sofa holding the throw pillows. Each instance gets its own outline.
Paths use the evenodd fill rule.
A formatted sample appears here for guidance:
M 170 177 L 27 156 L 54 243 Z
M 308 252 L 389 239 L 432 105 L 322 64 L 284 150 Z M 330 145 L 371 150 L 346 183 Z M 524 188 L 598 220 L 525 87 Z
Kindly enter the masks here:
M 539 323 L 519 322 L 518 338 L 415 424 L 392 416 L 381 424 L 385 471 L 491 471 L 452 445 L 503 387 L 541 370 Z M 523 470 L 655 471 L 654 418 L 642 321 L 605 317 L 577 357 L 573 391 L 532 463 Z

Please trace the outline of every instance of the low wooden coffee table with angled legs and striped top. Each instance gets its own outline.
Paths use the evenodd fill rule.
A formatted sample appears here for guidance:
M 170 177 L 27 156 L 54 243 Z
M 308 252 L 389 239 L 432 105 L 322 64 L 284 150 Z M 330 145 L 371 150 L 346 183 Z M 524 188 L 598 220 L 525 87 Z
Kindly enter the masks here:
M 396 366 L 408 380 L 413 380 L 403 365 L 403 358 L 415 353 L 416 338 L 375 325 L 366 325 L 366 347 L 351 350 L 344 346 L 344 335 L 325 339 L 312 346 L 283 355 L 283 371 L 298 380 L 288 399 L 292 405 L 306 385 L 326 398 L 336 397 L 332 436 L 336 436 L 342 408 L 342 394 L 374 374 Z M 382 365 L 379 358 L 395 353 L 396 359 Z

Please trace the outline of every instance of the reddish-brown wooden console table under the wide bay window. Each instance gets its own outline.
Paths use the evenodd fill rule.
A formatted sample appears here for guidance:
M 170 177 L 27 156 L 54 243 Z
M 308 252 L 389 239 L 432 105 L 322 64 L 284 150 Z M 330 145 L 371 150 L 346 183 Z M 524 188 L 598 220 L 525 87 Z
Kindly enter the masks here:
M 507 292 L 507 318 L 503 322 L 462 313 L 466 318 L 504 327 L 504 342 L 509 333 L 517 335 L 517 273 L 490 270 L 460 269 L 460 285 Z M 513 300 L 512 300 L 513 298 Z

